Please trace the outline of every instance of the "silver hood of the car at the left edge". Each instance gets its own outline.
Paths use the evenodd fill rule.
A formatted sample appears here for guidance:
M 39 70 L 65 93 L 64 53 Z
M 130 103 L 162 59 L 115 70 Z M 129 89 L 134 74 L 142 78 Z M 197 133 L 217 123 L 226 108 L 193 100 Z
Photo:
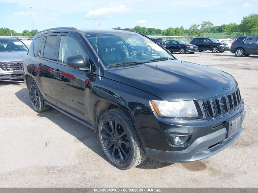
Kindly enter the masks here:
M 21 62 L 25 55 L 27 51 L 0 52 L 0 62 Z

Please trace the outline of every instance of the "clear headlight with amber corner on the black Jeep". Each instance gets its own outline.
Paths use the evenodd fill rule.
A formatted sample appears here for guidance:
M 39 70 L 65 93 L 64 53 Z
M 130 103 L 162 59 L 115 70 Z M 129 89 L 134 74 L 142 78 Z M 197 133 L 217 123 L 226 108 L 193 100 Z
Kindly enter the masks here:
M 151 101 L 151 106 L 159 116 L 174 118 L 198 117 L 194 101 Z

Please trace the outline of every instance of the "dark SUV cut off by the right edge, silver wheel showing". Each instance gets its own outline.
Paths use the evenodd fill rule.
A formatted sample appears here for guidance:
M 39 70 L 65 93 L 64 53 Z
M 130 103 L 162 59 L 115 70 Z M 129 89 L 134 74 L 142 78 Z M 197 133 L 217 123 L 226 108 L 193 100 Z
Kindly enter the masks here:
M 258 36 L 237 37 L 231 44 L 230 52 L 236 56 L 249 56 L 258 54 Z

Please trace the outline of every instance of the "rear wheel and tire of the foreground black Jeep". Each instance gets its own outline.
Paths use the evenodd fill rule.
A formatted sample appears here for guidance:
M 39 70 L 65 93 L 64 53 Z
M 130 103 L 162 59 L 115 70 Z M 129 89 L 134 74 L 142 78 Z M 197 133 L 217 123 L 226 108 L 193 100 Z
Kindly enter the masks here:
M 50 106 L 45 104 L 43 96 L 34 80 L 29 84 L 29 96 L 34 111 L 42 113 L 49 110 Z

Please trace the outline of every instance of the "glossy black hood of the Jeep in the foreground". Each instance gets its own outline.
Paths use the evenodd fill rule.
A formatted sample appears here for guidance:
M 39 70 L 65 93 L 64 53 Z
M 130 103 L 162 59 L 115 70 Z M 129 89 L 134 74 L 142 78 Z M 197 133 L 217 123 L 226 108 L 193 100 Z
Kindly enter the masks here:
M 162 100 L 198 100 L 233 90 L 228 73 L 181 60 L 165 60 L 104 70 L 106 78 L 151 93 Z M 223 90 L 227 86 L 228 90 Z

